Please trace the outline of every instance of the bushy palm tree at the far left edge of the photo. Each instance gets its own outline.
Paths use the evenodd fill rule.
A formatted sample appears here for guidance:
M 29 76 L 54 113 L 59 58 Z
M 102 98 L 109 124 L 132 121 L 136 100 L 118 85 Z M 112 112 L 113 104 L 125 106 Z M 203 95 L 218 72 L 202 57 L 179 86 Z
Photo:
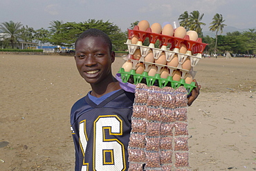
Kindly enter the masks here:
M 0 30 L 3 33 L 7 34 L 7 37 L 5 39 L 6 42 L 10 42 L 12 49 L 15 48 L 15 43 L 19 42 L 19 31 L 21 28 L 22 24 L 21 22 L 3 22 L 0 24 Z

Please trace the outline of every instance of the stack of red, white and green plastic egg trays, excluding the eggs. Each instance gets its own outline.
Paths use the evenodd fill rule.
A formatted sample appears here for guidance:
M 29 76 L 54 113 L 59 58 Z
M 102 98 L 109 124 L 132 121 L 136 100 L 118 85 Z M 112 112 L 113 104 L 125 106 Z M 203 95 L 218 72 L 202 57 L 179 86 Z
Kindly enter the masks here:
M 138 37 L 138 42 L 136 44 L 131 43 L 132 37 Z M 143 42 L 146 38 L 149 38 L 149 46 L 143 46 Z M 156 41 L 161 42 L 161 48 L 155 48 Z M 181 43 L 185 44 L 188 48 L 188 51 L 183 54 L 179 52 L 181 48 Z M 163 34 L 156 34 L 151 32 L 151 28 L 148 28 L 146 31 L 138 29 L 138 26 L 135 26 L 133 30 L 128 30 L 128 39 L 127 44 L 129 54 L 125 58 L 126 61 L 131 61 L 132 68 L 129 72 L 125 72 L 124 68 L 120 68 L 118 71 L 121 74 L 121 79 L 123 83 L 127 83 L 129 79 L 134 81 L 134 84 L 137 83 L 146 83 L 147 86 L 158 86 L 163 88 L 165 86 L 170 86 L 172 88 L 179 88 L 179 86 L 184 86 L 188 90 L 188 94 L 193 88 L 195 88 L 195 83 L 185 83 L 185 78 L 190 74 L 194 78 L 196 72 L 193 70 L 194 66 L 198 63 L 199 59 L 202 57 L 202 52 L 207 45 L 202 43 L 201 38 L 197 41 L 190 40 L 189 36 L 186 35 L 184 39 L 179 37 L 171 37 Z M 167 45 L 171 45 L 170 48 L 167 48 Z M 141 57 L 140 59 L 132 59 L 131 55 L 134 52 L 140 49 Z M 149 53 L 149 50 L 152 50 L 154 59 L 158 59 L 162 52 L 165 52 L 166 61 L 172 61 L 174 54 L 178 56 L 179 65 L 177 67 L 161 65 L 157 63 L 150 63 L 145 61 L 145 57 Z M 185 70 L 182 68 L 182 64 L 185 59 L 189 58 L 191 62 L 191 70 Z M 136 68 L 138 68 L 138 63 L 143 63 L 145 70 L 142 74 L 136 74 Z M 154 76 L 149 76 L 148 72 L 152 66 L 156 66 L 157 71 Z M 163 68 L 167 68 L 169 76 L 166 79 L 161 78 L 161 72 Z M 172 78 L 174 72 L 179 70 L 181 72 L 181 79 L 179 81 L 174 81 Z

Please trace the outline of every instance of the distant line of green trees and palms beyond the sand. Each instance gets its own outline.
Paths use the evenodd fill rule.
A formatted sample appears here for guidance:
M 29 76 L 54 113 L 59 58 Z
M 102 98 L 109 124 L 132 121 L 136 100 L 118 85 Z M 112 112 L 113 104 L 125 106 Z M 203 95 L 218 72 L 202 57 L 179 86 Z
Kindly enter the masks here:
M 210 23 L 209 30 L 215 32 L 215 37 L 203 36 L 201 26 L 205 26 L 205 23 L 201 22 L 203 14 L 194 10 L 190 13 L 185 11 L 179 16 L 180 26 L 183 26 L 186 30 L 195 30 L 199 37 L 203 39 L 203 43 L 208 43 L 205 48 L 205 53 L 225 53 L 226 51 L 237 54 L 255 54 L 256 47 L 256 32 L 255 29 L 249 29 L 245 32 L 228 32 L 226 35 L 218 35 L 223 32 L 224 24 L 221 14 L 215 14 Z M 138 24 L 138 21 L 131 23 L 130 29 L 134 28 Z M 89 28 L 98 28 L 109 35 L 113 42 L 113 50 L 123 51 L 127 50 L 127 46 L 124 44 L 127 40 L 127 31 L 122 32 L 116 24 L 110 21 L 102 21 L 89 19 L 88 21 L 76 23 L 63 21 L 51 21 L 49 27 L 40 28 L 35 30 L 34 28 L 23 26 L 20 22 L 3 22 L 0 23 L 1 34 L 0 47 L 3 48 L 15 48 L 15 43 L 19 43 L 19 39 L 27 42 L 39 43 L 41 46 L 44 43 L 51 43 L 53 46 L 67 46 L 74 45 L 75 39 L 84 30 Z M 8 36 L 6 36 L 8 35 Z M 11 46 L 11 47 L 8 47 Z

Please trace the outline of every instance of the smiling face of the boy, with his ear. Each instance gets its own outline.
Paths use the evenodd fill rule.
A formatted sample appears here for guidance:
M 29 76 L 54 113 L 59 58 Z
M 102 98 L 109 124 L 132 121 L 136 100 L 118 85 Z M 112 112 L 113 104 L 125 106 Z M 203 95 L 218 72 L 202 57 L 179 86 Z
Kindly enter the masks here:
M 111 64 L 115 53 L 109 52 L 109 46 L 102 37 L 86 37 L 77 41 L 75 63 L 80 75 L 87 83 L 102 83 L 112 78 Z

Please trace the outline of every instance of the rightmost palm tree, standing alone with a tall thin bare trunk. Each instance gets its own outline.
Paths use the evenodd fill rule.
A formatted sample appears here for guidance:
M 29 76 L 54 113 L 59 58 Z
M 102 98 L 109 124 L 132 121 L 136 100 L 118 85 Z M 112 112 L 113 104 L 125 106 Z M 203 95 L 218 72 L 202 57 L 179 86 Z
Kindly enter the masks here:
M 215 54 L 216 54 L 216 50 L 217 50 L 217 38 L 218 38 L 218 32 L 221 31 L 221 33 L 223 32 L 223 28 L 224 26 L 226 26 L 226 24 L 224 24 L 225 20 L 223 20 L 222 14 L 215 14 L 214 17 L 212 18 L 212 26 L 210 26 L 210 31 L 215 32 Z

